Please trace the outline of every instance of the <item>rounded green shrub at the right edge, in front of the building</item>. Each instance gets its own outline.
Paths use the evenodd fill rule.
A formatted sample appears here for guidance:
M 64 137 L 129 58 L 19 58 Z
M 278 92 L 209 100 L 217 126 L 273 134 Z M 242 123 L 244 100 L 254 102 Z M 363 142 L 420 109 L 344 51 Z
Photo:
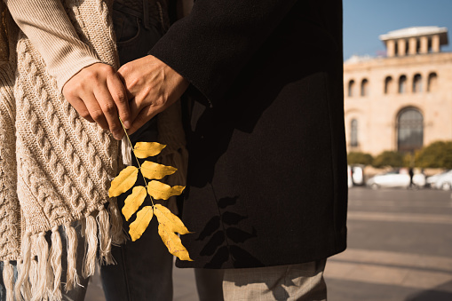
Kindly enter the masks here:
M 437 141 L 416 153 L 416 166 L 452 169 L 452 141 Z

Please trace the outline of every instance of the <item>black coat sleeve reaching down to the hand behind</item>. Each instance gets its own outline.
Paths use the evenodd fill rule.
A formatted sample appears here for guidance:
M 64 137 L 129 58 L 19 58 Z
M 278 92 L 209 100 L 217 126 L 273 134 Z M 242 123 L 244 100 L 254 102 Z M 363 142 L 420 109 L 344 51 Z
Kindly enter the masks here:
M 149 54 L 214 106 L 296 0 L 197 0 Z

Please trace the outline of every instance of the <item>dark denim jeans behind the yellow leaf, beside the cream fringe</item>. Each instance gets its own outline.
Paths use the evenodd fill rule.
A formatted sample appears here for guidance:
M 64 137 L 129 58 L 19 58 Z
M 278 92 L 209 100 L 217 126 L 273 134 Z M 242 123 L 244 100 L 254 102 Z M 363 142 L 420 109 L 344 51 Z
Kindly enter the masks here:
M 141 17 L 138 12 L 138 8 L 114 4 L 113 23 L 121 65 L 146 56 L 147 51 L 163 34 L 159 30 L 163 27 L 145 27 L 144 16 Z M 152 15 L 155 14 L 151 13 Z M 156 118 L 131 135 L 132 144 L 156 140 Z M 137 162 L 133 164 L 137 166 Z M 138 181 L 139 185 L 143 185 L 140 183 L 142 178 Z M 125 197 L 126 195 L 118 197 L 120 208 L 123 207 Z M 124 228 L 128 228 L 130 222 L 123 220 Z M 102 285 L 108 301 L 172 300 L 173 257 L 158 235 L 157 226 L 153 218 L 138 241 L 129 241 L 121 247 L 113 247 L 112 253 L 117 265 L 100 267 Z

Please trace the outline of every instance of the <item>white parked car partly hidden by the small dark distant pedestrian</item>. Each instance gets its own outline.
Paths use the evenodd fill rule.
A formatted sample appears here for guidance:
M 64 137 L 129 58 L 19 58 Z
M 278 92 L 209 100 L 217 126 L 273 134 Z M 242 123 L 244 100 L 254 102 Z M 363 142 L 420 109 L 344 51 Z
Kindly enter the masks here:
M 383 174 L 379 174 L 366 182 L 366 185 L 372 189 L 378 189 L 380 187 L 409 187 L 409 174 L 408 170 L 391 170 Z M 425 176 L 423 173 L 416 173 L 413 176 L 413 184 L 416 187 L 425 186 Z

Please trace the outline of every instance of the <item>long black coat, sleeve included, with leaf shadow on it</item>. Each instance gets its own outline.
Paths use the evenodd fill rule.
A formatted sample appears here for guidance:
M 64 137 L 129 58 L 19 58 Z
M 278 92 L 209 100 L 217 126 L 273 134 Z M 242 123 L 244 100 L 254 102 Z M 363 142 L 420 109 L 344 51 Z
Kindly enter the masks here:
M 206 268 L 346 244 L 340 0 L 197 0 L 150 51 L 192 84 L 182 242 Z M 196 92 L 198 92 L 196 95 Z

